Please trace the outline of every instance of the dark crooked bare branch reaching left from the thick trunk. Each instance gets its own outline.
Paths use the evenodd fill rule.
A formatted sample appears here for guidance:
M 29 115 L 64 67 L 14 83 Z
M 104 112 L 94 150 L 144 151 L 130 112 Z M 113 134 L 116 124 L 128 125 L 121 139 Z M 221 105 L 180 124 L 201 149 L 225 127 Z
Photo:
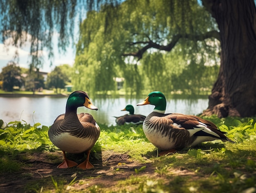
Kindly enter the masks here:
M 202 41 L 207 38 L 216 38 L 217 40 L 220 40 L 220 34 L 216 30 L 208 31 L 205 34 L 200 34 L 200 35 L 177 34 L 177 35 L 173 36 L 171 42 L 168 43 L 167 45 L 160 45 L 158 43 L 154 43 L 150 39 L 149 39 L 149 41 L 130 42 L 129 45 L 145 44 L 145 46 L 142 47 L 141 49 L 139 49 L 138 52 L 124 53 L 122 56 L 134 56 L 134 57 L 137 57 L 138 58 L 137 61 L 139 61 L 142 58 L 142 55 L 144 54 L 144 52 L 146 52 L 147 49 L 150 49 L 150 48 L 155 48 L 155 49 L 170 52 L 173 49 L 173 47 L 176 45 L 176 43 L 180 40 L 180 38 L 186 38 L 186 39 L 194 40 L 194 41 Z

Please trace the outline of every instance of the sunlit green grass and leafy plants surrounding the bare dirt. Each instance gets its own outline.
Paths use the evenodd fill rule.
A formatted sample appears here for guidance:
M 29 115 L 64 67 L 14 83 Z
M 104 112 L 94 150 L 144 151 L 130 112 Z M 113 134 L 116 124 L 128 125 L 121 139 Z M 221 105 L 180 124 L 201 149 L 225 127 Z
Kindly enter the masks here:
M 130 168 L 128 177 L 117 180 L 115 186 L 106 186 L 101 182 L 103 175 L 84 176 L 81 172 L 79 179 L 49 176 L 36 183 L 25 184 L 25 189 L 34 192 L 42 192 L 43 188 L 43 192 L 68 192 L 67 189 L 71 189 L 71 192 L 86 190 L 104 193 L 256 192 L 256 119 L 218 119 L 215 116 L 207 119 L 227 132 L 227 137 L 236 141 L 236 144 L 215 140 L 195 148 L 184 148 L 172 155 L 157 157 L 157 148 L 146 139 L 141 126 L 100 125 L 101 135 L 92 150 L 94 156 L 100 156 L 104 151 L 128 154 L 132 161 L 140 163 L 137 168 Z M 10 122 L 7 126 L 3 126 L 0 121 L 0 127 L 1 174 L 11 175 L 22 171 L 32 152 L 41 152 L 52 163 L 59 162 L 58 157 L 49 154 L 59 150 L 49 141 L 48 127 L 40 126 L 40 123 L 31 126 L 19 121 Z M 18 162 L 17 158 L 23 162 Z M 112 175 L 124 173 L 117 166 L 110 172 Z M 92 180 L 98 180 L 99 183 L 81 191 L 74 188 Z

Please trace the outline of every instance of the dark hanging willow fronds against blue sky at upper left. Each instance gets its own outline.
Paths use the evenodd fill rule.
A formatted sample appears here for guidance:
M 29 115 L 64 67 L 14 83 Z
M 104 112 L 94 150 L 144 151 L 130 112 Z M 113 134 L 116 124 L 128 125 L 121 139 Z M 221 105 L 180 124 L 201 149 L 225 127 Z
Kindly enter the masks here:
M 0 0 L 0 33 L 6 45 L 22 47 L 30 43 L 31 67 L 43 65 L 43 48 L 53 54 L 53 34 L 58 34 L 58 49 L 74 42 L 74 25 L 88 10 L 102 4 L 118 4 L 117 0 Z M 79 23 L 77 23 L 79 25 Z M 8 41 L 7 41 L 8 40 Z

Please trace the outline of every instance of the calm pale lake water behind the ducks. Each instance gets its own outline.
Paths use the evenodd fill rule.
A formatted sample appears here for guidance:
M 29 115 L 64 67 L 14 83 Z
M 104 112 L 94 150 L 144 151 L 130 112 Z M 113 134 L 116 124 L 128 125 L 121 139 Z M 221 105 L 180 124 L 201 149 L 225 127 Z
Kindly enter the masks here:
M 145 97 L 146 98 L 146 97 Z M 126 105 L 131 104 L 135 108 L 135 114 L 147 116 L 153 111 L 153 105 L 136 106 L 144 99 L 90 99 L 99 110 L 90 110 L 79 107 L 77 112 L 92 114 L 98 123 L 106 123 L 108 126 L 116 125 L 115 117 L 127 114 L 121 111 Z M 183 114 L 199 114 L 208 107 L 208 99 L 166 99 L 166 113 L 177 112 Z M 0 119 L 5 123 L 10 121 L 26 121 L 31 125 L 41 123 L 51 126 L 56 117 L 65 113 L 67 97 L 56 96 L 0 96 Z M 24 123 L 22 121 L 22 123 Z

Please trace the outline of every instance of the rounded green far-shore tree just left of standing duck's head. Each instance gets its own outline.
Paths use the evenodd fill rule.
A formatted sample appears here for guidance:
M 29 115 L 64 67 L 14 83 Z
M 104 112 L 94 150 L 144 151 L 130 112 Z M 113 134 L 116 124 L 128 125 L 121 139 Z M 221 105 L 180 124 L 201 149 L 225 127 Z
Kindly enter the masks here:
M 68 76 L 62 72 L 61 67 L 56 66 L 54 70 L 48 74 L 46 85 L 48 89 L 55 88 L 56 93 L 58 93 L 58 88 L 65 88 L 68 80 Z

